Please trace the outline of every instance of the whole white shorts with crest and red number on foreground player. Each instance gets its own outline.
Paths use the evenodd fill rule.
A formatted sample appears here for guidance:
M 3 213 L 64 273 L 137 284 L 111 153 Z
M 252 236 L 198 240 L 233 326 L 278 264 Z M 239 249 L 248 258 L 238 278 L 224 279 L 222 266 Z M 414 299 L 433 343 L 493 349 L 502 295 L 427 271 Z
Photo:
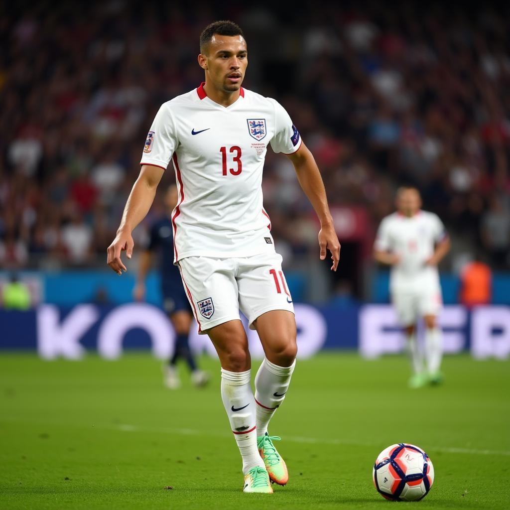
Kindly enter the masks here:
M 282 271 L 279 253 L 261 253 L 251 257 L 187 257 L 177 264 L 188 295 L 198 333 L 239 320 L 253 321 L 270 310 L 294 313 L 292 296 Z

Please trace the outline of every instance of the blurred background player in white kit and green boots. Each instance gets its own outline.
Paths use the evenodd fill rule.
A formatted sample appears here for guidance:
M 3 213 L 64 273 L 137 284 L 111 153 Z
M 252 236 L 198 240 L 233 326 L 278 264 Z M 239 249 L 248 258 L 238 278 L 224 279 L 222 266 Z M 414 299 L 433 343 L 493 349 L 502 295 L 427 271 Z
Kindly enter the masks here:
M 437 324 L 443 299 L 437 265 L 450 249 L 442 221 L 421 211 L 419 191 L 397 191 L 397 212 L 381 221 L 374 245 L 374 258 L 392 266 L 390 294 L 398 320 L 405 328 L 413 375 L 412 388 L 442 380 L 442 335 Z M 416 322 L 425 322 L 425 367 L 416 338 Z

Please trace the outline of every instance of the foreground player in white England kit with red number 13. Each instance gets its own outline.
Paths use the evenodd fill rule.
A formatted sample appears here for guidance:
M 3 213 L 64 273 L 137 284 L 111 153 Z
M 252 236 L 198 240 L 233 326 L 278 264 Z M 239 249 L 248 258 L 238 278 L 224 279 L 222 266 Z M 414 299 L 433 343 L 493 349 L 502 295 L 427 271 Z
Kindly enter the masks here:
M 272 493 L 287 467 L 268 424 L 284 401 L 297 353 L 292 296 L 275 252 L 263 207 L 267 147 L 293 163 L 321 223 L 320 259 L 340 243 L 319 169 L 285 109 L 241 87 L 248 64 L 242 30 L 231 21 L 210 24 L 200 36 L 198 64 L 205 82 L 164 103 L 145 142 L 141 172 L 127 199 L 108 264 L 121 274 L 130 258 L 133 228 L 146 215 L 170 160 L 179 188 L 172 215 L 174 263 L 179 267 L 199 333 L 209 335 L 221 363 L 221 397 L 242 457 L 244 492 Z M 250 353 L 239 310 L 264 348 L 250 384 Z

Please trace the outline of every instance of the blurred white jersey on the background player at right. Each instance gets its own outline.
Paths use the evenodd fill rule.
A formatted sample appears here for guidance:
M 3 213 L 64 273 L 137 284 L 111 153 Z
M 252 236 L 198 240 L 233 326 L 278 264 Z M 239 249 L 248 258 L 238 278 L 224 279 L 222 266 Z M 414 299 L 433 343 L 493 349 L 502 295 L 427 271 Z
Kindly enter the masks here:
M 437 267 L 425 262 L 432 256 L 435 244 L 445 237 L 443 222 L 427 211 L 419 211 L 411 218 L 397 212 L 381 221 L 375 249 L 400 257 L 400 263 L 391 268 L 392 293 L 440 290 Z

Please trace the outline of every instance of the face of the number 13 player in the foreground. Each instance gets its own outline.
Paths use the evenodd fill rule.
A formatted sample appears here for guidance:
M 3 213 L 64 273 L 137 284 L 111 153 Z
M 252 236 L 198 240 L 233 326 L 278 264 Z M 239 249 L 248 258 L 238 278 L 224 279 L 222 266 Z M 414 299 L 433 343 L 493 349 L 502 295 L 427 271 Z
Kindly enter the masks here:
M 241 88 L 248 65 L 246 41 L 240 35 L 213 35 L 206 54 L 198 56 L 200 66 L 217 90 L 235 92 Z

